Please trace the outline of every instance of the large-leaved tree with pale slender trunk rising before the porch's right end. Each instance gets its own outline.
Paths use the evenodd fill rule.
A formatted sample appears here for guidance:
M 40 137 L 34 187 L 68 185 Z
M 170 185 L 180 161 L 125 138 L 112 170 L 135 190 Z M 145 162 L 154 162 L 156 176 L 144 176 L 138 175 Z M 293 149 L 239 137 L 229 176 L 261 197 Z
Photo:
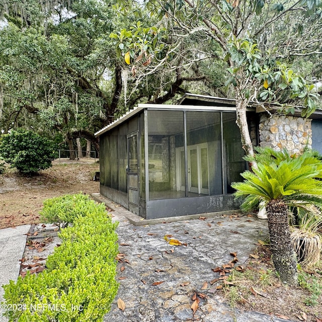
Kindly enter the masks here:
M 165 66 L 186 70 L 200 61 L 208 66 L 220 61 L 226 67 L 225 94 L 236 100 L 237 124 L 248 154 L 254 151 L 247 106 L 277 104 L 292 113 L 299 104 L 303 116 L 317 108 L 320 0 L 146 0 L 145 5 L 158 18 L 157 29 L 148 31 L 151 39 L 144 28 L 134 29 L 135 37 L 129 30 L 112 34 L 132 73 L 142 77 Z

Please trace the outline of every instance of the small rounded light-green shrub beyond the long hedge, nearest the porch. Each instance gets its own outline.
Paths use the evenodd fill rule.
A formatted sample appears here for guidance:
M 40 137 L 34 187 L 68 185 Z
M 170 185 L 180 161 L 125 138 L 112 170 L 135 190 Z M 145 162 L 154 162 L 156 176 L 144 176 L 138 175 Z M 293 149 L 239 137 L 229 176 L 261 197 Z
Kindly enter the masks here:
M 44 222 L 68 225 L 78 217 L 96 211 L 97 207 L 89 196 L 79 193 L 47 199 L 39 213 Z

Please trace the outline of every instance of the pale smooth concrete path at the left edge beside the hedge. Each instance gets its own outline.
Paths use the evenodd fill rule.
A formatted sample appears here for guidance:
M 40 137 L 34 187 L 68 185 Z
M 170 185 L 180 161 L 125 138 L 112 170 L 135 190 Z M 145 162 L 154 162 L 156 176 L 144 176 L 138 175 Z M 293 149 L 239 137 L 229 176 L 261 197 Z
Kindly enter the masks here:
M 19 260 L 24 255 L 29 229 L 30 225 L 0 229 L 0 302 L 4 300 L 5 293 L 1 286 L 8 284 L 10 280 L 16 281 L 19 276 Z M 0 322 L 5 322 L 8 319 L 2 313 L 0 309 Z

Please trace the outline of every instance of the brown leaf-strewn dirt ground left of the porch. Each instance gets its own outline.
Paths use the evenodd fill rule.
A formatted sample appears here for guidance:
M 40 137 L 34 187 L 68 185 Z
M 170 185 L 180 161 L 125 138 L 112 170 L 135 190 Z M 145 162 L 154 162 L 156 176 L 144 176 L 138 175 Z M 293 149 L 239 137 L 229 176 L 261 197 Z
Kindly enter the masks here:
M 8 169 L 0 175 L 0 229 L 39 223 L 39 210 L 47 198 L 99 192 L 99 182 L 93 181 L 96 171 L 99 164 L 94 158 L 78 162 L 55 160 L 52 168 L 31 178 Z

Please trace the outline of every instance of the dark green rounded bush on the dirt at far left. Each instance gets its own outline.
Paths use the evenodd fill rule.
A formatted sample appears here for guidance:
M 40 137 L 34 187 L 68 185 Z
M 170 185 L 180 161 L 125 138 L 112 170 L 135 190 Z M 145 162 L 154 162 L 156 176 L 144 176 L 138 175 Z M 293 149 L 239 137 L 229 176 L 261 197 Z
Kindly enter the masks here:
M 48 169 L 56 155 L 52 141 L 25 129 L 12 130 L 0 138 L 0 155 L 26 175 Z

